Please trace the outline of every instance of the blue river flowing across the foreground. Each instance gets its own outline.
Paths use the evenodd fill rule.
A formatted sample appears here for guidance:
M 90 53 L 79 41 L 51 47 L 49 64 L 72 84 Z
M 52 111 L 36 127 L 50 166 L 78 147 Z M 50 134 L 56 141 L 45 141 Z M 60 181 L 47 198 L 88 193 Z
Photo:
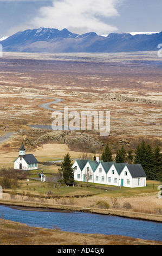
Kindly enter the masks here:
M 162 223 L 86 212 L 19 210 L 0 205 L 0 217 L 30 227 L 54 228 L 83 234 L 123 235 L 162 241 Z

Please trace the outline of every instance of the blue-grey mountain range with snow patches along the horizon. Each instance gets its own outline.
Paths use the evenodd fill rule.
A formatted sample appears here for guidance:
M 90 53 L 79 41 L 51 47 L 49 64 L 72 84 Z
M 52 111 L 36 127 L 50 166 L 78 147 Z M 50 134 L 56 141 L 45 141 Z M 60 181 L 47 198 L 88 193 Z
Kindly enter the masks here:
M 4 52 L 134 52 L 157 51 L 162 44 L 159 33 L 111 33 L 106 36 L 95 32 L 74 34 L 66 28 L 27 29 L 5 37 L 1 41 Z

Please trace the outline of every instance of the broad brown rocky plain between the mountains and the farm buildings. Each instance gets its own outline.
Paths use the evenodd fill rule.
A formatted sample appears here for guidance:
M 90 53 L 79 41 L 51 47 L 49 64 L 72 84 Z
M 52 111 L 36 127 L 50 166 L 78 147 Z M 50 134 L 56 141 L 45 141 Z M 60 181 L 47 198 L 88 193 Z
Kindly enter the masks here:
M 162 143 L 161 59 L 155 53 L 4 53 L 0 77 L 1 134 L 17 134 L 8 150 L 18 147 L 22 138 L 30 148 L 58 142 L 88 152 L 102 151 L 107 141 L 114 152 L 122 144 L 134 149 L 142 138 L 153 147 Z M 64 100 L 50 105 L 58 110 L 110 111 L 110 135 L 33 130 L 29 125 L 51 125 L 52 111 L 40 105 L 53 98 Z

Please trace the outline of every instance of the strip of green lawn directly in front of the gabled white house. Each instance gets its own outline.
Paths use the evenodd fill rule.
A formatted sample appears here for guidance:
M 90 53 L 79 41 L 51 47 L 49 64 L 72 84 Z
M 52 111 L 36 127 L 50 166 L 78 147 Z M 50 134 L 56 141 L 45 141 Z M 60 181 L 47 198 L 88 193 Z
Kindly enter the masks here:
M 38 175 L 32 175 L 37 176 Z M 31 180 L 30 176 L 28 177 L 29 181 L 23 180 L 20 181 L 20 188 L 17 188 L 17 192 L 22 193 L 23 191 L 25 193 L 30 192 L 31 194 L 41 194 L 44 196 L 47 196 L 48 191 L 50 190 L 51 193 L 53 193 L 56 196 L 87 196 L 88 194 L 98 194 L 99 196 L 106 197 L 132 197 L 137 196 L 138 194 L 147 194 L 147 193 L 153 193 L 157 191 L 157 187 L 159 185 L 158 181 L 151 181 L 147 180 L 147 186 L 146 187 L 138 187 L 138 188 L 128 188 L 128 187 L 121 187 L 116 190 L 103 190 L 98 189 L 95 187 L 86 187 L 85 182 L 79 182 L 79 187 L 76 186 L 65 186 L 61 185 L 62 187 L 54 187 L 54 184 L 49 184 L 48 182 L 41 182 L 41 180 Z M 28 185 L 27 185 L 28 184 Z M 84 185 L 84 186 L 81 186 Z M 103 188 L 103 185 L 95 184 L 98 187 Z M 106 185 L 105 185 L 106 187 Z M 109 186 L 110 188 L 114 188 L 114 186 Z

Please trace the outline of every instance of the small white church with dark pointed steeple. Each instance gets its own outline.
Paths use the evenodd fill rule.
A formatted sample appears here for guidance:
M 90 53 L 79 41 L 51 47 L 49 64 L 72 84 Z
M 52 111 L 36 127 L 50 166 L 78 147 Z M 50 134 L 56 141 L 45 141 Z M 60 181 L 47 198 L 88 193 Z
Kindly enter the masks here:
M 33 154 L 25 154 L 24 144 L 22 142 L 19 149 L 19 156 L 14 162 L 15 170 L 36 170 L 38 169 L 38 161 Z

